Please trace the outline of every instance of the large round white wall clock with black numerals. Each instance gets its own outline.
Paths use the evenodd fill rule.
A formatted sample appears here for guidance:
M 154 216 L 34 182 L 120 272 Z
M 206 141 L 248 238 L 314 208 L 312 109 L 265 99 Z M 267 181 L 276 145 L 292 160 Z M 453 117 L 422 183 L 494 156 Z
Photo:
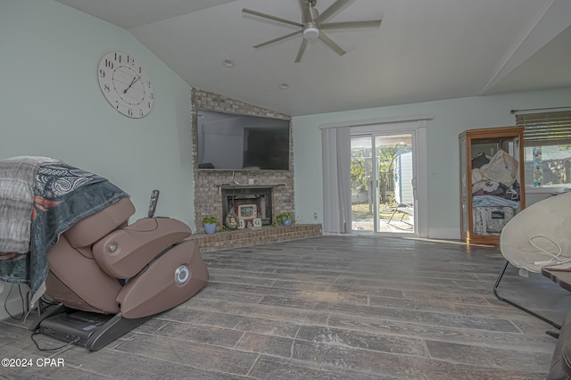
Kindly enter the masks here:
M 129 54 L 105 54 L 97 71 L 105 99 L 123 115 L 142 118 L 153 108 L 153 85 Z

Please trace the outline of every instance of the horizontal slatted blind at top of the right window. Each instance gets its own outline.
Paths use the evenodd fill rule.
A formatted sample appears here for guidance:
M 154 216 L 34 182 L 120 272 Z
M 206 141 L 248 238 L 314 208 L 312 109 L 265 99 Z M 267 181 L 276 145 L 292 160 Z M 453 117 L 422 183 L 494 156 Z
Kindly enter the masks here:
M 525 146 L 571 144 L 571 111 L 521 113 L 516 122 L 525 128 Z

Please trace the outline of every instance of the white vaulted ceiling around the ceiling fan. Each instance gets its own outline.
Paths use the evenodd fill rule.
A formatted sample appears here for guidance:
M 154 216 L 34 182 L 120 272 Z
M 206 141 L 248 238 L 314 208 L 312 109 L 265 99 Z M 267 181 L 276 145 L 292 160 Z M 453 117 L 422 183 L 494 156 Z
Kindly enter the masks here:
M 381 26 L 327 30 L 347 53 L 318 40 L 297 63 L 300 35 L 252 47 L 295 27 L 242 9 L 302 22 L 299 0 L 56 1 L 128 29 L 192 87 L 292 116 L 571 87 L 569 0 L 352 0 L 328 21 Z

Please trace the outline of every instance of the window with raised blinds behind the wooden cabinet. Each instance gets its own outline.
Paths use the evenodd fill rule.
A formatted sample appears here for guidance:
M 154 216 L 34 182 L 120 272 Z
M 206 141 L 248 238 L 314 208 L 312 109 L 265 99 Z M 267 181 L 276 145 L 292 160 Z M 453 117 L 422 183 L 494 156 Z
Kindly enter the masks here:
M 525 185 L 571 185 L 571 111 L 521 113 L 524 129 Z

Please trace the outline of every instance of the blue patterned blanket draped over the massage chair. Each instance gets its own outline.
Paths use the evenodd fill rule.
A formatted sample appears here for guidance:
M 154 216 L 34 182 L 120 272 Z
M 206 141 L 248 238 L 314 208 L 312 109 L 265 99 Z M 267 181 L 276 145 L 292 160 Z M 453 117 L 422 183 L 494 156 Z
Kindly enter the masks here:
M 0 194 L 2 196 L 2 194 Z M 29 252 L 0 252 L 0 280 L 28 284 L 30 307 L 46 291 L 46 253 L 77 223 L 128 194 L 107 179 L 65 163 L 37 169 Z

